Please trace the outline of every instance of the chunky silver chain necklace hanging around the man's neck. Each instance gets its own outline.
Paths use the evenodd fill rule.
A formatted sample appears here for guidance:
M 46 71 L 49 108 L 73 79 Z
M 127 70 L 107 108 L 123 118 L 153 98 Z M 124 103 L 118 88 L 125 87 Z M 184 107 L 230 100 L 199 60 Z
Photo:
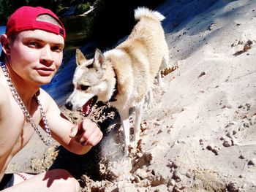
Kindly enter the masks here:
M 39 99 L 37 98 L 37 95 L 35 94 L 34 98 L 37 101 L 42 121 L 45 124 L 45 132 L 47 134 L 47 137 L 45 137 L 45 138 L 42 137 L 42 134 L 40 133 L 37 124 L 34 123 L 33 118 L 31 118 L 31 115 L 29 115 L 29 111 L 26 109 L 26 106 L 23 103 L 22 99 L 20 98 L 20 95 L 19 95 L 18 91 L 16 90 L 15 86 L 13 85 L 12 80 L 10 78 L 10 75 L 7 71 L 7 67 L 5 66 L 4 63 L 1 63 L 1 69 L 3 69 L 4 76 L 7 78 L 8 85 L 10 86 L 10 90 L 12 91 L 12 96 L 14 97 L 14 99 L 18 103 L 18 105 L 20 106 L 20 109 L 22 110 L 23 114 L 25 115 L 27 120 L 29 120 L 29 123 L 34 128 L 34 131 L 36 131 L 36 133 L 39 135 L 42 142 L 44 142 L 45 145 L 50 146 L 53 143 L 53 139 L 52 139 L 51 134 L 50 134 L 50 127 L 49 127 L 49 124 L 48 124 L 48 120 L 45 117 L 45 112 L 42 109 L 42 104 L 40 103 Z

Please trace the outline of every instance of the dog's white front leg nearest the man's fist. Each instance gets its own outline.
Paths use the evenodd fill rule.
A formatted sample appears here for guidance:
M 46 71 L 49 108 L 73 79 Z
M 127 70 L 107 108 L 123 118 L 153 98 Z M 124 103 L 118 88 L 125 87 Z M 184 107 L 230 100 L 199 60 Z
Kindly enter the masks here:
M 129 110 L 123 110 L 119 112 L 121 123 L 123 125 L 124 130 L 124 155 L 128 155 L 129 153 Z

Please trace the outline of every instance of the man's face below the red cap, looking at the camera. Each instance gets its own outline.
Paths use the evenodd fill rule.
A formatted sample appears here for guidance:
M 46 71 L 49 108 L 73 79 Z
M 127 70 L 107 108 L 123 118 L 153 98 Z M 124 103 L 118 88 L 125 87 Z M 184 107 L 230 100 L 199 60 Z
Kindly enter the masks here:
M 44 85 L 52 80 L 63 57 L 64 39 L 42 30 L 22 31 L 10 42 L 12 69 L 23 80 Z

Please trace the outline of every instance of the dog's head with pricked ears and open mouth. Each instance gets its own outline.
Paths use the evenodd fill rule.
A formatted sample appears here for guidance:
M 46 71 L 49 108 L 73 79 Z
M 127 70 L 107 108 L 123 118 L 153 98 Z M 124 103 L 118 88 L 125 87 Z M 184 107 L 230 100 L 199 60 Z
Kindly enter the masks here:
M 100 50 L 95 51 L 93 59 L 87 60 L 80 50 L 76 50 L 75 74 L 73 77 L 74 91 L 66 101 L 69 110 L 83 107 L 83 114 L 89 115 L 91 107 L 96 103 L 97 96 L 105 93 L 105 56 Z

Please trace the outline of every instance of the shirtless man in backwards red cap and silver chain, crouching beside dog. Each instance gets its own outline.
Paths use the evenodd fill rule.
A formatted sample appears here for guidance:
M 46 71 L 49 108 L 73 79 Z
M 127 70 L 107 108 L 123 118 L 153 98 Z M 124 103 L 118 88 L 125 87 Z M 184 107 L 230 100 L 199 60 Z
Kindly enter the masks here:
M 1 36 L 4 61 L 0 69 L 0 191 L 78 191 L 69 172 L 53 169 L 42 174 L 4 174 L 12 157 L 34 132 L 50 145 L 56 139 L 67 150 L 87 153 L 102 139 L 97 125 L 86 119 L 72 125 L 62 118 L 53 99 L 40 86 L 52 80 L 61 65 L 64 26 L 49 9 L 20 7 Z M 43 138 L 41 126 L 47 133 Z

